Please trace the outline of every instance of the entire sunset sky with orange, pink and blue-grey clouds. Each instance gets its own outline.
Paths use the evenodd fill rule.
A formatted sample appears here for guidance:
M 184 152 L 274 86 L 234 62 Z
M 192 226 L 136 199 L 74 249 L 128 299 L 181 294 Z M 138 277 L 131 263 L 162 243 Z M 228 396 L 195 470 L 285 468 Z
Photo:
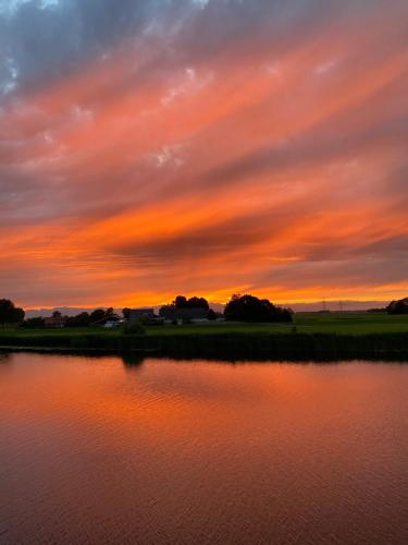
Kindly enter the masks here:
M 0 0 L 0 296 L 408 294 L 406 0 Z

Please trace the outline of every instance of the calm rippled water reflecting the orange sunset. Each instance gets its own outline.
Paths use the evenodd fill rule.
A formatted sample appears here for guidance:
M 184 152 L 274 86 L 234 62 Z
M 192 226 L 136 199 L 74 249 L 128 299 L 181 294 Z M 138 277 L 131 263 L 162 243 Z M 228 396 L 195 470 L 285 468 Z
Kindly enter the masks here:
M 408 364 L 0 361 L 1 544 L 407 544 Z

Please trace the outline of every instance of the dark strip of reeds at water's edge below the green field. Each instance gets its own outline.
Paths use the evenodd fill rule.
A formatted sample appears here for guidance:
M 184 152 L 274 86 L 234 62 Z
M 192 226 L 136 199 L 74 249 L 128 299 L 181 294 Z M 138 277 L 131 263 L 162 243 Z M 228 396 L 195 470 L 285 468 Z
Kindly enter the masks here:
M 407 334 L 344 335 L 206 335 L 82 336 L 8 339 L 1 350 L 55 353 L 139 353 L 174 359 L 220 360 L 349 360 L 408 359 Z

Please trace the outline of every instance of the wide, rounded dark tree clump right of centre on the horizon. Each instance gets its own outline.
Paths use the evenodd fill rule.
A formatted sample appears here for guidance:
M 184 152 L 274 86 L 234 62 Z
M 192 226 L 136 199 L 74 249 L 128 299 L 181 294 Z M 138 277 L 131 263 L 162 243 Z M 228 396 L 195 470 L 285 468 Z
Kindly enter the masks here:
M 254 295 L 233 295 L 224 310 L 226 319 L 237 322 L 292 322 L 292 313 L 268 299 Z

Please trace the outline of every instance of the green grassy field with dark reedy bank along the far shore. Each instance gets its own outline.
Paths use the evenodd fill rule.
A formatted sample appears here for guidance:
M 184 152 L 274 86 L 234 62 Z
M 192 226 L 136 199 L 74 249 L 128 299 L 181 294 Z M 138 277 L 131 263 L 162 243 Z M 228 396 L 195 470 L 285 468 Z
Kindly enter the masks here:
M 296 361 L 408 360 L 408 316 L 382 313 L 298 313 L 293 323 L 233 323 L 0 330 L 0 349 L 124 353 L 174 359 Z

